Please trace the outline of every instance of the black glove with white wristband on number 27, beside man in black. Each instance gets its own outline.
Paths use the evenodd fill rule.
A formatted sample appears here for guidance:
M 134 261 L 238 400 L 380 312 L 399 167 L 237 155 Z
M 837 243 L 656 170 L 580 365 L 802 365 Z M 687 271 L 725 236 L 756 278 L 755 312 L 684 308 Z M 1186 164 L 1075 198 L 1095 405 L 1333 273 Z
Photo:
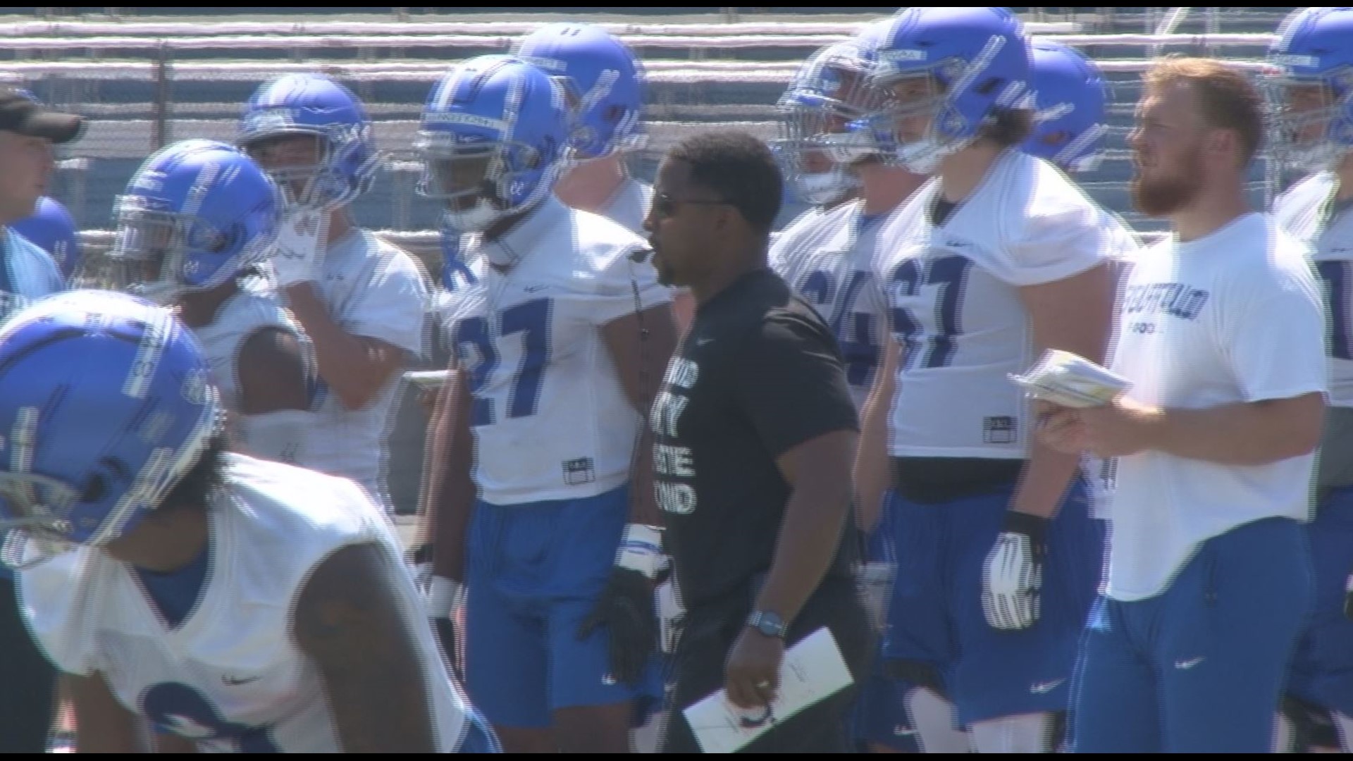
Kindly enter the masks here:
M 653 578 L 660 558 L 660 534 L 628 524 L 606 588 L 578 627 L 578 639 L 587 639 L 601 626 L 609 630 L 610 676 L 632 687 L 639 684 L 658 649 Z

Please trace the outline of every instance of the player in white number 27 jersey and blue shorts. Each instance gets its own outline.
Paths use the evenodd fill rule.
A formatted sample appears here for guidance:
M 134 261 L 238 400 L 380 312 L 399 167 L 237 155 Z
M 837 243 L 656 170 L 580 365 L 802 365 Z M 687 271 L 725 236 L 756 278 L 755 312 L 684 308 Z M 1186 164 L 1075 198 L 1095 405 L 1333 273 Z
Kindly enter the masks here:
M 509 56 L 457 65 L 423 111 L 419 192 L 482 261 L 451 320 L 433 586 L 467 590 L 465 684 L 509 752 L 622 753 L 659 695 L 640 421 L 675 322 L 645 241 L 555 198 L 570 127 L 564 88 Z

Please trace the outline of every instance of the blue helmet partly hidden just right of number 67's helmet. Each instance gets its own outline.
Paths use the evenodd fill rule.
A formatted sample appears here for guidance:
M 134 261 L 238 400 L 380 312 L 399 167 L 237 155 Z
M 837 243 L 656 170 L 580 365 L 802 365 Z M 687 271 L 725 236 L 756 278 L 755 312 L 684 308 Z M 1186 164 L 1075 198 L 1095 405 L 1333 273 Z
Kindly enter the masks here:
M 1099 66 L 1077 50 L 1038 39 L 1032 84 L 1038 112 L 1024 153 L 1066 172 L 1093 172 L 1104 157 L 1108 134 L 1108 84 Z

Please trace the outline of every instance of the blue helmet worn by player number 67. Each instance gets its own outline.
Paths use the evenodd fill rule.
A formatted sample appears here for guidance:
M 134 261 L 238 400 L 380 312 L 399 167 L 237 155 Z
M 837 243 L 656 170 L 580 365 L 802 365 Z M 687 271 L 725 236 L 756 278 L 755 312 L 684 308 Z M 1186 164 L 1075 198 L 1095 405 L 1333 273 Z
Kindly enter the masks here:
M 919 175 L 971 145 L 1003 110 L 1034 107 L 1028 39 L 1008 8 L 905 8 L 867 56 L 870 84 L 889 104 L 852 127 Z

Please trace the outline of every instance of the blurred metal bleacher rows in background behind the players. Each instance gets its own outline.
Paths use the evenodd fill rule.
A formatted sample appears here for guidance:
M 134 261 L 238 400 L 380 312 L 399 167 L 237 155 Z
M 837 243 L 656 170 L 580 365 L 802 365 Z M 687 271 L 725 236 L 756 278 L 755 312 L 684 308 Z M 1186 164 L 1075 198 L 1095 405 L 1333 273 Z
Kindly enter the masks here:
M 1073 43 L 1114 84 L 1109 152 L 1084 187 L 1139 232 L 1161 229 L 1130 213 L 1123 142 L 1155 54 L 1216 56 L 1254 69 L 1292 8 L 1015 8 L 1035 34 Z M 326 70 L 361 96 L 391 160 L 357 200 L 361 225 L 440 267 L 437 209 L 414 194 L 409 148 L 422 103 L 445 68 L 505 51 L 534 24 L 614 24 L 644 60 L 649 146 L 630 168 L 651 180 L 658 160 L 693 130 L 736 125 L 774 137 L 774 103 L 798 62 L 821 45 L 894 8 L 5 8 L 0 79 L 58 108 L 88 115 L 85 139 L 64 148 L 51 195 L 84 230 L 92 264 L 107 246 L 111 210 L 141 161 L 165 142 L 231 139 L 241 103 L 288 70 Z M 1289 177 L 1257 161 L 1252 192 L 1262 203 Z M 781 223 L 802 211 L 787 198 Z M 437 352 L 437 362 L 444 353 Z M 425 413 L 405 395 L 391 441 L 390 482 L 399 512 L 413 512 L 422 469 Z

